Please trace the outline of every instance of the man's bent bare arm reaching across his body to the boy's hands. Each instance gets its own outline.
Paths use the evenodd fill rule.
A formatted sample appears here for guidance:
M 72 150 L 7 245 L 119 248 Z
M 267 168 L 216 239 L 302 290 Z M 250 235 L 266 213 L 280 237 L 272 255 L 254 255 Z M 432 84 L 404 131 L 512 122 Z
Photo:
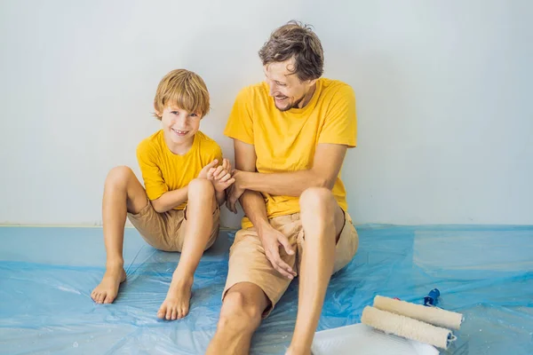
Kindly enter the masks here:
M 260 174 L 254 170 L 235 171 L 235 185 L 246 190 L 298 197 L 309 187 L 333 188 L 346 155 L 347 146 L 319 144 L 309 170 Z M 255 162 L 254 162 L 255 164 Z M 240 170 L 237 167 L 237 170 Z

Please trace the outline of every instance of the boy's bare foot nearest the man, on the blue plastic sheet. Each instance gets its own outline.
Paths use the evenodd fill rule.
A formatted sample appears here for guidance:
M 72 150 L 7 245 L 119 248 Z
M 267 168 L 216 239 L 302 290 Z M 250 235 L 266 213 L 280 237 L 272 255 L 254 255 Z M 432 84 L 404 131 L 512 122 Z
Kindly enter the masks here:
M 187 316 L 193 280 L 193 277 L 172 277 L 171 287 L 157 312 L 157 318 L 175 320 Z

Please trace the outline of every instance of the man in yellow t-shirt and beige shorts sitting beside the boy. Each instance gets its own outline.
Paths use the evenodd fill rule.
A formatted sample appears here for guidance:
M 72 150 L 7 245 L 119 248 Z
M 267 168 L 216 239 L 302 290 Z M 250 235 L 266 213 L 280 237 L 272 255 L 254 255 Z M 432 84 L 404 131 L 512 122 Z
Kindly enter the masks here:
M 246 217 L 230 251 L 219 325 L 208 354 L 247 354 L 262 318 L 299 274 L 288 354 L 310 354 L 330 275 L 359 240 L 339 172 L 356 144 L 354 91 L 322 78 L 322 44 L 297 22 L 259 51 L 264 83 L 238 94 L 225 134 L 234 138 L 235 183 L 227 195 Z

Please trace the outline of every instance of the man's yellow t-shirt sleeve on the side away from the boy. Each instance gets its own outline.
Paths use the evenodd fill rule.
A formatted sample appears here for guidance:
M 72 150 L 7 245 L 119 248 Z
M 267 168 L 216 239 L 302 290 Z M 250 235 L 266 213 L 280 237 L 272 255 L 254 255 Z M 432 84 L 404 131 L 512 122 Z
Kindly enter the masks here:
M 331 98 L 331 106 L 322 125 L 318 143 L 357 146 L 355 94 L 349 85 L 344 85 Z

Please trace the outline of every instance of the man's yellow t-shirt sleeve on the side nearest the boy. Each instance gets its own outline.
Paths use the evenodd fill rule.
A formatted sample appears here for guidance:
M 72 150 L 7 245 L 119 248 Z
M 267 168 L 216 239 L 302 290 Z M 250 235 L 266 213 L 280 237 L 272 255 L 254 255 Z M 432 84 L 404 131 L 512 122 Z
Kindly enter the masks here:
M 224 134 L 253 145 L 253 122 L 251 119 L 251 91 L 243 89 L 237 95 L 229 114 Z

